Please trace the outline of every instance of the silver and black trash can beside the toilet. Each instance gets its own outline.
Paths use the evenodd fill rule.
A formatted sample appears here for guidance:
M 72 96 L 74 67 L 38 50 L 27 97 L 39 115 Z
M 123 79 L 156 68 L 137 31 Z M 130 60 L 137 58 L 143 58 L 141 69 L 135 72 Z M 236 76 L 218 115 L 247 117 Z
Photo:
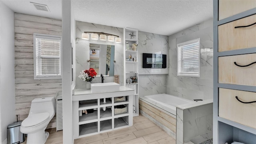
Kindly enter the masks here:
M 7 140 L 8 144 L 20 144 L 25 141 L 25 136 L 20 132 L 20 125 L 22 121 L 14 122 L 7 126 Z

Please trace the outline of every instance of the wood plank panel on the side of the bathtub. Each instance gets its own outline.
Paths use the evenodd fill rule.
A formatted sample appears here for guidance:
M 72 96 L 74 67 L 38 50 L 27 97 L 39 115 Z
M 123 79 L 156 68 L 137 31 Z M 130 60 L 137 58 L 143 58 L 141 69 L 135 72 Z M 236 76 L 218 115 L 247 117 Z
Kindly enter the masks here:
M 176 133 L 176 118 L 139 100 L 139 109 Z

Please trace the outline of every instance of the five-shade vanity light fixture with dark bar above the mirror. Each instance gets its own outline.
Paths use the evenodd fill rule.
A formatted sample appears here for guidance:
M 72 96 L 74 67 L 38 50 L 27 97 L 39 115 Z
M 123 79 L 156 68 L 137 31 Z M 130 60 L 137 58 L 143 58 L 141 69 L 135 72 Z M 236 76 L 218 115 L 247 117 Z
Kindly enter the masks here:
M 100 35 L 100 40 L 102 40 L 102 41 L 106 41 L 107 36 L 108 36 L 108 41 L 109 42 L 114 42 L 114 41 L 116 43 L 121 43 L 122 42 L 122 39 L 119 38 L 119 36 L 114 35 L 114 34 L 107 34 L 107 33 L 104 33 L 104 32 L 84 32 L 84 33 L 82 33 L 82 39 L 89 40 L 90 35 L 88 33 L 91 33 L 91 40 L 98 40 L 99 35 Z

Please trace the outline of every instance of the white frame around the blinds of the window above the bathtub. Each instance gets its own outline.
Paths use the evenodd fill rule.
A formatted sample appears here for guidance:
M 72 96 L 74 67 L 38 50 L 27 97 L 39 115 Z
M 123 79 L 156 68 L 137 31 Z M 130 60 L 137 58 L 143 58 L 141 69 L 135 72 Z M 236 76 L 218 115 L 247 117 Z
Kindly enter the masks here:
M 179 50 L 178 48 L 180 46 L 184 46 L 184 45 L 187 45 L 193 41 L 197 41 L 198 40 L 198 43 L 199 43 L 199 48 L 198 48 L 198 74 L 195 74 L 195 73 L 179 73 Z M 200 77 L 200 47 L 201 47 L 201 43 L 200 43 L 200 38 L 197 38 L 197 39 L 194 39 L 194 40 L 190 40 L 190 41 L 187 41 L 187 42 L 182 42 L 182 43 L 179 43 L 177 44 L 177 76 L 192 76 L 192 77 Z

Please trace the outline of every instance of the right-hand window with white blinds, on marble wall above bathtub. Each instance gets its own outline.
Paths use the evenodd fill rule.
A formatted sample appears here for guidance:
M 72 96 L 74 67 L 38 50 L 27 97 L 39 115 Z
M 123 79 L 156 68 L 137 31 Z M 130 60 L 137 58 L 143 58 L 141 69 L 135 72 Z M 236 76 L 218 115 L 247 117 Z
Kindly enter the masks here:
M 177 75 L 200 76 L 200 38 L 177 44 Z

